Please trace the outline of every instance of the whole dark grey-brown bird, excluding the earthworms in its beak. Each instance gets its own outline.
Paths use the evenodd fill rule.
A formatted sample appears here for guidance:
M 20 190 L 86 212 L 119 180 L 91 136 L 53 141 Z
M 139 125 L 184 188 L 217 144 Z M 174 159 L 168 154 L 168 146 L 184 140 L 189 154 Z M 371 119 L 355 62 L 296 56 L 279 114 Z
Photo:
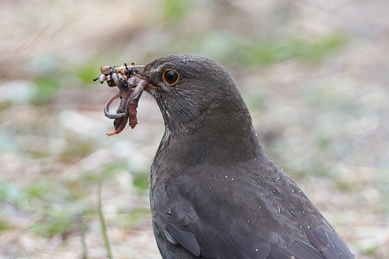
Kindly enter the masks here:
M 354 259 L 266 155 L 227 69 L 179 53 L 139 71 L 165 124 L 149 173 L 163 259 Z

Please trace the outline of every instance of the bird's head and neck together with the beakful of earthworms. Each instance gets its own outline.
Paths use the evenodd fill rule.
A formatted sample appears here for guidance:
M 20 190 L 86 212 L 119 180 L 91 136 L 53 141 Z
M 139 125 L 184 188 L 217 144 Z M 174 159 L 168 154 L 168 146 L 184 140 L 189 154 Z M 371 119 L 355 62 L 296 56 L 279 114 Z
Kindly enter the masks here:
M 115 119 L 115 131 L 107 135 L 120 133 L 127 121 L 135 127 L 136 107 L 141 92 L 146 91 L 156 100 L 165 122 L 161 146 L 175 149 L 166 154 L 190 164 L 256 157 L 260 144 L 248 108 L 230 73 L 216 61 L 172 54 L 145 66 L 101 70 L 100 83 L 106 80 L 119 87 L 105 106 L 106 116 Z M 111 114 L 109 105 L 119 97 L 119 109 Z M 169 145 L 171 140 L 176 145 Z

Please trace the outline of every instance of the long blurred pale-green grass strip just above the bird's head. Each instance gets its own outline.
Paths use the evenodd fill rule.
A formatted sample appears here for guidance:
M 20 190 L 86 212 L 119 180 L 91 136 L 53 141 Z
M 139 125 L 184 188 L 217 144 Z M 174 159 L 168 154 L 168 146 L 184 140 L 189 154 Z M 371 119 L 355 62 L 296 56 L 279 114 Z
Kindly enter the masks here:
M 289 59 L 320 64 L 329 54 L 349 42 L 345 34 L 312 35 L 310 39 L 293 37 L 256 37 L 234 35 L 226 31 L 194 33 L 161 48 L 170 52 L 194 52 L 240 66 L 265 66 Z M 165 51 L 166 52 L 166 51 Z

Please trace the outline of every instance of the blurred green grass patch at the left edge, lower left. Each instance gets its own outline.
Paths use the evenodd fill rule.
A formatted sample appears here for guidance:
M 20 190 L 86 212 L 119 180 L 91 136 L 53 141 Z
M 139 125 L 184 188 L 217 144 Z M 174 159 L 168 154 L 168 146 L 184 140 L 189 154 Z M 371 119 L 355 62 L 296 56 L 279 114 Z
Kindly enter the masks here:
M 34 213 L 39 219 L 30 226 L 30 230 L 50 238 L 55 234 L 65 234 L 79 221 L 77 215 L 80 212 L 71 207 L 77 199 L 88 193 L 85 192 L 85 188 L 73 186 L 74 182 L 63 184 L 51 177 L 42 177 L 26 188 L 2 183 L 0 202 L 12 204 L 25 213 Z M 7 227 L 5 223 L 1 224 L 2 231 L 13 229 L 11 226 Z

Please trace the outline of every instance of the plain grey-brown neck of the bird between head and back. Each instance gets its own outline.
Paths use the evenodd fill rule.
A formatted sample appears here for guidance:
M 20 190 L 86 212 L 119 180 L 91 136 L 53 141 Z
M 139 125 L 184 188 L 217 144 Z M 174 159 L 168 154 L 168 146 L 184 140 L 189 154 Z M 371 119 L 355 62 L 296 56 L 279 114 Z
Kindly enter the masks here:
M 203 114 L 183 124 L 170 121 L 169 116 L 164 119 L 165 134 L 156 154 L 158 159 L 192 167 L 232 166 L 262 153 L 244 103 L 212 102 Z

